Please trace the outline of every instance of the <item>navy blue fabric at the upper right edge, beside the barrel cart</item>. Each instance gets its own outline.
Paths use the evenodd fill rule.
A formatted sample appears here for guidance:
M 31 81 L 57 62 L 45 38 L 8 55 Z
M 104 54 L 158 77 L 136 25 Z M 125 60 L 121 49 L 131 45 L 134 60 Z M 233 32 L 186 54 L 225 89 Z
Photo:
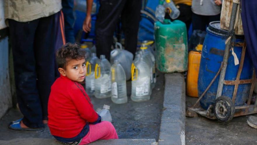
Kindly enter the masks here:
M 242 1 L 242 24 L 249 56 L 257 76 L 257 1 Z

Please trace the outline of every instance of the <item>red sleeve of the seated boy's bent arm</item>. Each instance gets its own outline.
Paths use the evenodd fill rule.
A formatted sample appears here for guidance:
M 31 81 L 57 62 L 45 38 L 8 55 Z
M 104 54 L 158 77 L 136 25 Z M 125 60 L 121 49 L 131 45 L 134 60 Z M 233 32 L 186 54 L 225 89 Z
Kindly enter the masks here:
M 79 111 L 79 114 L 87 122 L 95 122 L 98 119 L 98 114 L 95 112 L 90 98 L 86 94 L 81 84 L 73 82 L 70 88 L 67 88 L 68 93 Z

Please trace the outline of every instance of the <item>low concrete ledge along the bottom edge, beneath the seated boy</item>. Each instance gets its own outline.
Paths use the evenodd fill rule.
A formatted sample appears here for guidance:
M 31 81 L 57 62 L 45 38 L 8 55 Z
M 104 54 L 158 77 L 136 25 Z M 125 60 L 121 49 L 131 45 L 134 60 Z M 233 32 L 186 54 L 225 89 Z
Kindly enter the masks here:
M 42 138 L 31 138 L 31 139 L 12 139 L 12 140 L 0 140 L 1 144 L 26 144 L 26 145 L 62 145 L 55 141 L 55 139 L 42 139 Z M 110 139 L 110 140 L 98 140 L 89 145 L 158 145 L 155 139 Z

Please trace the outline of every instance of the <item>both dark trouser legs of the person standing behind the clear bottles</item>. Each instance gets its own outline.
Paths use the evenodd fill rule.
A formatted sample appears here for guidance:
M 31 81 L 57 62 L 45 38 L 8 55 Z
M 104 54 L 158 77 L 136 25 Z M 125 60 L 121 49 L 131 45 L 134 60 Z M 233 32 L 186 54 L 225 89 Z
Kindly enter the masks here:
M 135 54 L 140 21 L 141 0 L 101 0 L 95 23 L 97 56 L 105 55 L 110 60 L 114 30 L 121 16 L 125 35 L 125 49 Z

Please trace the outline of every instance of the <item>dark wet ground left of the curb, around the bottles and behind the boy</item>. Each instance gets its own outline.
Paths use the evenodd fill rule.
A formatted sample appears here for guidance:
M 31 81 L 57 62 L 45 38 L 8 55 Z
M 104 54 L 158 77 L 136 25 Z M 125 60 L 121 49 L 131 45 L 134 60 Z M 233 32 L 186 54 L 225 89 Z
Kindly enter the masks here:
M 164 75 L 158 73 L 157 83 L 152 90 L 151 99 L 144 102 L 133 102 L 130 99 L 131 82 L 127 82 L 128 103 L 114 104 L 111 98 L 97 99 L 91 97 L 95 110 L 104 104 L 110 105 L 112 124 L 120 139 L 156 139 L 159 137 L 161 111 L 163 108 Z M 41 132 L 15 131 L 8 129 L 9 122 L 20 119 L 22 114 L 18 109 L 11 109 L 1 118 L 0 139 L 14 138 L 53 138 L 49 128 Z

